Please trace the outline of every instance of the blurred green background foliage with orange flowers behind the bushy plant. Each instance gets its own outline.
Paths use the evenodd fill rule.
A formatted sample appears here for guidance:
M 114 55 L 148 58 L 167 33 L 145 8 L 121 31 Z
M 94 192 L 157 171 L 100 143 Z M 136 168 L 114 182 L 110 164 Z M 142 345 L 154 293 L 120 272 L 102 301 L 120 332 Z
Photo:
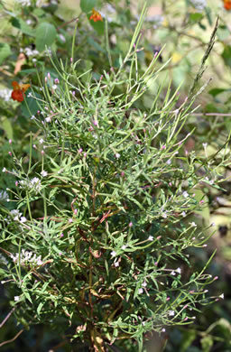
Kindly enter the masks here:
M 194 129 L 185 146 L 185 153 L 216 153 L 225 143 L 231 127 L 231 11 L 228 1 L 222 0 L 150 0 L 146 21 L 143 24 L 139 69 L 144 71 L 156 51 L 162 51 L 159 65 L 166 63 L 158 79 L 149 87 L 148 94 L 139 101 L 141 109 L 152 106 L 152 100 L 160 85 L 168 87 L 171 80 L 172 93 L 180 86 L 179 104 L 188 96 L 200 61 L 207 49 L 209 37 L 217 16 L 219 23 L 217 39 L 208 58 L 208 68 L 199 84 L 201 88 L 208 80 L 208 87 L 199 95 L 195 114 L 189 116 L 182 134 Z M 103 17 L 103 21 L 89 20 L 92 8 Z M 74 45 L 74 60 L 79 60 L 79 74 L 93 70 L 99 79 L 103 70 L 116 69 L 120 57 L 124 57 L 129 47 L 135 25 L 143 7 L 143 1 L 104 0 L 2 0 L 0 2 L 0 157 L 1 168 L 11 168 L 8 154 L 8 140 L 12 139 L 14 152 L 25 156 L 29 149 L 29 135 L 35 127 L 31 116 L 38 110 L 36 103 L 26 97 L 26 102 L 18 103 L 11 98 L 12 81 L 30 83 L 39 87 L 40 75 L 50 72 L 51 81 L 56 74 L 46 47 L 56 52 L 57 58 L 65 59 L 69 65 L 72 35 L 78 19 L 77 36 Z M 107 19 L 107 24 L 106 24 Z M 108 36 L 106 32 L 108 28 Z M 108 52 L 108 47 L 110 51 Z M 157 68 L 158 69 L 158 66 Z M 36 89 L 35 89 L 36 90 Z M 164 89 L 163 89 L 164 91 Z M 30 92 L 30 89 L 27 91 Z M 118 93 L 118 92 L 117 92 Z M 39 88 L 37 93 L 39 96 Z M 162 99 L 164 96 L 162 96 Z M 31 112 L 28 112 L 27 104 Z M 158 103 L 160 109 L 162 101 Z M 230 144 L 227 144 L 229 150 Z M 34 158 L 37 154 L 34 154 Z M 27 162 L 26 158 L 23 162 Z M 216 164 L 216 158 L 214 163 Z M 208 268 L 208 273 L 217 275 L 219 280 L 210 288 L 210 295 L 224 293 L 225 299 L 206 307 L 198 313 L 192 326 L 166 327 L 162 337 L 148 336 L 147 348 L 158 352 L 228 352 L 231 350 L 231 186 L 229 168 L 219 170 L 226 181 L 221 184 L 223 191 L 211 184 L 202 184 L 196 198 L 204 202 L 203 211 L 195 214 L 194 221 L 199 227 L 215 223 L 216 233 L 211 237 L 208 248 L 192 248 L 190 264 L 199 271 L 208 261 L 209 255 L 217 248 L 217 254 Z M 9 174 L 2 173 L 0 200 L 6 203 L 5 189 L 14 189 Z M 7 205 L 6 205 L 7 206 Z M 10 207 L 10 206 L 9 206 Z M 196 220 L 195 220 L 196 218 Z M 0 255 L 0 262 L 3 258 Z M 10 310 L 9 297 L 4 286 L 0 286 L 1 317 L 4 320 Z M 3 351 L 77 351 L 62 338 L 59 331 L 37 326 L 24 331 L 10 344 L 1 342 L 14 338 L 22 327 L 16 326 L 14 316 L 0 329 L 0 346 Z M 81 349 L 84 351 L 84 348 Z M 109 350 L 111 347 L 108 347 Z M 129 347 L 127 350 L 131 350 Z M 134 346 L 134 351 L 136 347 Z M 117 350 L 116 350 L 117 351 Z M 115 351 L 115 352 L 116 352 Z

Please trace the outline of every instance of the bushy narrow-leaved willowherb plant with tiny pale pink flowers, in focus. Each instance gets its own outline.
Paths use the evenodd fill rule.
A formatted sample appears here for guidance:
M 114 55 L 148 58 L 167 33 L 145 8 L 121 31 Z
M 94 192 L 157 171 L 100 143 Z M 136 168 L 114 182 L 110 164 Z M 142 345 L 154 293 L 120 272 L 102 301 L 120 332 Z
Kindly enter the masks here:
M 187 248 L 206 246 L 188 216 L 203 208 L 194 198 L 201 182 L 218 187 L 217 169 L 184 153 L 192 101 L 176 109 L 169 88 L 162 104 L 158 89 L 150 109 L 136 105 L 158 74 L 158 56 L 143 75 L 137 69 L 143 16 L 119 69 L 100 79 L 51 58 L 57 78 L 45 77 L 43 98 L 34 96 L 27 171 L 13 144 L 14 171 L 4 170 L 15 179 L 1 239 L 14 315 L 91 351 L 141 351 L 147 332 L 192 323 L 199 304 L 216 300 L 206 287 L 217 278 L 206 267 L 190 273 Z

